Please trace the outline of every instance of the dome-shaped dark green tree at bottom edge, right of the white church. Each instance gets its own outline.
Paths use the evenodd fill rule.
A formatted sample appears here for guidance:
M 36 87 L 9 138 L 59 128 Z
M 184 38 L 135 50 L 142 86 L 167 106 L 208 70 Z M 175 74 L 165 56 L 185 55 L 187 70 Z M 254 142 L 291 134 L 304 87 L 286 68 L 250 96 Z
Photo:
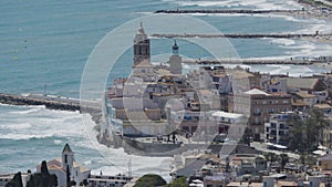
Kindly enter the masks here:
M 166 181 L 159 175 L 147 174 L 138 178 L 134 187 L 156 187 L 166 185 Z

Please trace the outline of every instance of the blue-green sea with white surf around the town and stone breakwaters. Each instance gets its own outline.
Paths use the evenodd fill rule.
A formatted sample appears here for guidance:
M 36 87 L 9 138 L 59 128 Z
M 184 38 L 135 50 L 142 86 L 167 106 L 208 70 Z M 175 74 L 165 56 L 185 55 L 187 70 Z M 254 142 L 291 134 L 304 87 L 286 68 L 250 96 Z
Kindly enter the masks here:
M 0 1 L 0 92 L 80 97 L 81 79 L 92 51 L 114 29 L 159 9 L 302 9 L 291 0 L 2 0 Z M 282 14 L 189 14 L 221 33 L 331 33 L 332 24 Z M 148 22 L 144 22 L 148 27 Z M 138 28 L 139 25 L 137 25 Z M 165 25 L 164 25 L 165 27 Z M 148 33 L 148 30 L 146 30 Z M 132 41 L 134 39 L 131 38 Z M 120 42 L 114 40 L 114 43 Z M 317 58 L 332 44 L 292 39 L 230 39 L 238 58 Z M 173 41 L 152 40 L 152 55 L 170 53 Z M 183 45 L 181 45 L 183 44 Z M 179 41 L 181 55 L 199 50 Z M 108 49 L 112 51 L 112 49 Z M 105 87 L 132 70 L 127 50 L 108 74 Z M 229 55 L 227 58 L 237 58 Z M 158 58 L 156 58 L 158 59 Z M 252 71 L 305 76 L 331 71 L 314 65 L 243 65 Z M 185 65 L 187 71 L 191 66 Z M 128 155 L 90 137 L 79 112 L 44 106 L 0 105 L 0 174 L 35 170 L 61 156 L 65 143 L 92 173 L 134 176 L 155 173 L 169 179 L 172 158 Z

